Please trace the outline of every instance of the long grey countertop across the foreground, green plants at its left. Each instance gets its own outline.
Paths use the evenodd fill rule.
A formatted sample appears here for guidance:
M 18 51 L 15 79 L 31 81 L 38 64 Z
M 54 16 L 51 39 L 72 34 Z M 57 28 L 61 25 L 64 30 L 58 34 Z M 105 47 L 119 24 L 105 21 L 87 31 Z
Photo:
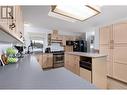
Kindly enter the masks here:
M 93 84 L 58 68 L 43 71 L 33 55 L 0 67 L 0 89 L 96 89 Z

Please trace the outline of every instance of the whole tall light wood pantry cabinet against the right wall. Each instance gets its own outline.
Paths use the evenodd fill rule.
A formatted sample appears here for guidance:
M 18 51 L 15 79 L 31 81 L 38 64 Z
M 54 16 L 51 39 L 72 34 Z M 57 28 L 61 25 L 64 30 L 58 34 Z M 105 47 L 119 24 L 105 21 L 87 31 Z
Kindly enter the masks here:
M 100 31 L 100 53 L 106 53 L 108 55 L 108 75 L 115 79 L 127 82 L 127 22 L 120 22 L 110 25 L 111 30 L 107 29 L 107 35 L 105 30 Z M 104 28 L 104 27 L 103 27 Z M 104 46 L 102 43 L 108 43 Z M 110 64 L 110 65 L 109 65 Z

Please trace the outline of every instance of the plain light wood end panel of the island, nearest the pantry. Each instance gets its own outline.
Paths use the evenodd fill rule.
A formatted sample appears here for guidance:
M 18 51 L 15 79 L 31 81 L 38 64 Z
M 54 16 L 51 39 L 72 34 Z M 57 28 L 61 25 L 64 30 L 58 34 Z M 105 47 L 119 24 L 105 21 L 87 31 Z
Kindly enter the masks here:
M 92 83 L 107 88 L 106 57 L 92 58 Z

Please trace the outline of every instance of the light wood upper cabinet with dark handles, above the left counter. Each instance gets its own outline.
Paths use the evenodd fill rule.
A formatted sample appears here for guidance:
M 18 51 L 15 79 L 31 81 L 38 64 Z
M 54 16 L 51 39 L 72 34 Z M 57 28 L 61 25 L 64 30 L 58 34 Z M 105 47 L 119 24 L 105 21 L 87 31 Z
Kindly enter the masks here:
M 0 13 L 0 41 L 23 43 L 24 23 L 21 7 L 0 6 Z

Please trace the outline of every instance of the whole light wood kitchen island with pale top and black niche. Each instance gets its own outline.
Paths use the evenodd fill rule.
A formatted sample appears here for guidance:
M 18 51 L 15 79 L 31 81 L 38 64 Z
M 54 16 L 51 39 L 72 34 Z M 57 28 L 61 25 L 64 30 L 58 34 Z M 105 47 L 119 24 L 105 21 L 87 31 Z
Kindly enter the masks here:
M 65 68 L 88 80 L 98 88 L 107 88 L 106 55 L 98 53 L 65 52 Z

